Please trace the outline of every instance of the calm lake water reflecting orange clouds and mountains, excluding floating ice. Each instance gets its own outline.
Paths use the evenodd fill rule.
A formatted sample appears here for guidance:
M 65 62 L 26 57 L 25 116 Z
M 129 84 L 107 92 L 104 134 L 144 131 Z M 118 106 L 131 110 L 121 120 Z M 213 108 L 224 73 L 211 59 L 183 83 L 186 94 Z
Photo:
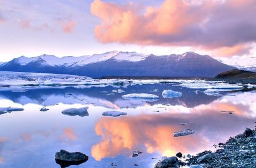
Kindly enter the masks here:
M 116 93 L 118 88 L 124 92 Z M 182 92 L 182 97 L 163 98 L 161 93 L 168 89 Z M 70 167 L 154 167 L 163 156 L 214 150 L 213 144 L 254 127 L 256 92 L 223 92 L 216 97 L 201 91 L 171 84 L 0 90 L 0 107 L 24 108 L 0 115 L 0 167 L 60 167 L 54 155 L 61 149 L 89 156 L 84 164 Z M 156 94 L 160 99 L 122 98 L 131 93 Z M 49 111 L 40 111 L 43 106 Z M 89 116 L 61 114 L 63 109 L 84 106 Z M 102 116 L 113 110 L 127 115 Z M 188 124 L 180 125 L 184 122 Z M 173 137 L 182 129 L 195 133 Z M 143 153 L 132 157 L 134 149 Z

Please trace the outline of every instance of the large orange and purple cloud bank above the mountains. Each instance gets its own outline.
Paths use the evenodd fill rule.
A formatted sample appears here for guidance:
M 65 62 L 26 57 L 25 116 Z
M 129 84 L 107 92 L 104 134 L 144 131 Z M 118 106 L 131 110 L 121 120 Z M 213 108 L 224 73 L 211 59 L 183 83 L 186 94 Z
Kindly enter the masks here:
M 95 0 L 90 10 L 100 18 L 95 37 L 102 43 L 200 46 L 220 49 L 227 56 L 241 53 L 256 41 L 254 6 L 253 0 L 165 0 L 158 7 L 138 10 L 133 3 L 120 6 Z

